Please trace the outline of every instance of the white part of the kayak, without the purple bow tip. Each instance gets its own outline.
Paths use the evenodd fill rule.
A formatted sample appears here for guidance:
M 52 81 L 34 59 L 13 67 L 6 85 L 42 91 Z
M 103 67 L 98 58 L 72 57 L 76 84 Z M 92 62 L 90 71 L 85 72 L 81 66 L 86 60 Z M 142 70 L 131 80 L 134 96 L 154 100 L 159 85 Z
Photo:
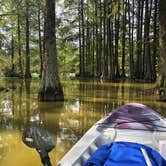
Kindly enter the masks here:
M 133 104 L 132 104 L 133 105 Z M 143 106 L 138 105 L 137 106 Z M 116 111 L 116 110 L 115 110 Z M 111 113 L 112 114 L 112 113 Z M 93 125 L 85 135 L 71 148 L 71 150 L 60 160 L 58 166 L 83 166 L 92 153 L 101 145 L 111 144 L 115 141 L 135 142 L 147 145 L 157 150 L 166 159 L 166 119 L 152 111 L 159 118 L 155 122 L 159 129 L 129 129 L 102 126 L 108 117 L 105 116 Z M 149 115 L 148 115 L 149 116 Z M 138 125 L 137 125 L 138 126 Z

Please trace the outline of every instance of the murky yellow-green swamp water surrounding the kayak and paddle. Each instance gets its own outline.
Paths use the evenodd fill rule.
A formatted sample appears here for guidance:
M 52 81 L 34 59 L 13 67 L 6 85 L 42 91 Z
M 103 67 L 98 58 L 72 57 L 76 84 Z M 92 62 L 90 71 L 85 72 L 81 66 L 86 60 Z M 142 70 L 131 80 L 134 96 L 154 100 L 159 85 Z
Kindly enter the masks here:
M 27 126 L 46 128 L 55 140 L 53 165 L 102 116 L 116 107 L 138 102 L 166 117 L 166 103 L 157 101 L 154 84 L 62 81 L 65 102 L 37 101 L 39 80 L 0 79 L 0 166 L 40 166 L 35 150 L 22 143 Z

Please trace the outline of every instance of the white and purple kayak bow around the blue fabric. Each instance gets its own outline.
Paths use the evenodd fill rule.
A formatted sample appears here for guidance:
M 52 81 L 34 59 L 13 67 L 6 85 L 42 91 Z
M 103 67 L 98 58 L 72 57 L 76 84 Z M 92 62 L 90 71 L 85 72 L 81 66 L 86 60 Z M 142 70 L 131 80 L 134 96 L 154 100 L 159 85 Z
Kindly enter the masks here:
M 115 141 L 150 146 L 166 159 L 166 121 L 149 107 L 124 105 L 93 125 L 61 159 L 58 166 L 83 166 L 101 145 Z

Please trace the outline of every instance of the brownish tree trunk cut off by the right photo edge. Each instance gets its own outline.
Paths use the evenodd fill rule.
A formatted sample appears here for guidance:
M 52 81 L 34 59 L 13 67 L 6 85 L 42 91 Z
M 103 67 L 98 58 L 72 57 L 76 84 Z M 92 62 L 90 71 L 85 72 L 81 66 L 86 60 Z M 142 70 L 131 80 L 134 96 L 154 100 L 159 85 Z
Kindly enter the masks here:
M 166 3 L 159 1 L 159 45 L 160 45 L 160 72 L 158 77 L 160 99 L 166 101 Z

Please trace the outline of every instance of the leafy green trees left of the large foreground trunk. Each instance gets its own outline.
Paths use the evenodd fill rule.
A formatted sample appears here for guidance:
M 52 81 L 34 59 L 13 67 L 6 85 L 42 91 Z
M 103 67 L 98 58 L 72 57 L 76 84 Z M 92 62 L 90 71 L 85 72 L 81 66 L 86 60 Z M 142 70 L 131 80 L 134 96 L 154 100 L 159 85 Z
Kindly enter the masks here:
M 0 1 L 0 54 L 8 61 L 3 68 L 5 76 L 31 78 L 31 72 L 38 70 L 41 74 L 44 6 L 39 0 Z

